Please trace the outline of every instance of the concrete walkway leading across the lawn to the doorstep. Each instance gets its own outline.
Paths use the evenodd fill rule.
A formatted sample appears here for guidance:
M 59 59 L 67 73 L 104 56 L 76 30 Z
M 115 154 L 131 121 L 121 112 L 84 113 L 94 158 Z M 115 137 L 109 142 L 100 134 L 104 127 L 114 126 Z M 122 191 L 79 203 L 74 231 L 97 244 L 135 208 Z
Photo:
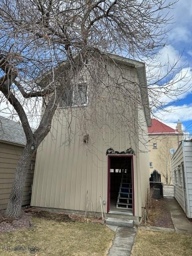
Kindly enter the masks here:
M 113 245 L 109 250 L 108 256 L 130 256 L 134 244 L 137 228 L 127 228 L 107 225 L 115 231 Z

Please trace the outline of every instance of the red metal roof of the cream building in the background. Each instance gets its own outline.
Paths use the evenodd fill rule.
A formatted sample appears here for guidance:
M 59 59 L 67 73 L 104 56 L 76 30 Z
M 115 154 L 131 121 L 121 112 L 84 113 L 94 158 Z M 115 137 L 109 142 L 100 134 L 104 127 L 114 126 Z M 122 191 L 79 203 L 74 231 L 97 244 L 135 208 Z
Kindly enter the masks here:
M 178 134 L 178 130 L 171 128 L 170 126 L 160 122 L 159 120 L 152 118 L 151 127 L 148 127 L 148 133 L 175 133 Z

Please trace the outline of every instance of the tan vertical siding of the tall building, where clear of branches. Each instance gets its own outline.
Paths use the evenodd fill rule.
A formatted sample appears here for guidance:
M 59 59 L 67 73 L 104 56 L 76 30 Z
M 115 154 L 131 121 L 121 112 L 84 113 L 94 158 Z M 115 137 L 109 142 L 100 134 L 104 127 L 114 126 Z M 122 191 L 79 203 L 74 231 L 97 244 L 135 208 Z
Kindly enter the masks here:
M 110 71 L 111 67 L 109 66 L 109 72 L 114 72 L 112 69 Z M 128 80 L 132 79 L 138 82 L 137 71 L 134 68 L 124 67 L 126 67 L 124 76 L 127 76 Z M 116 72 L 119 70 L 117 69 Z M 115 76 L 119 77 L 119 80 L 122 79 L 120 74 Z M 130 83 L 130 86 L 133 85 Z M 86 108 L 91 113 L 89 105 Z M 96 110 L 101 112 L 99 103 Z M 31 205 L 84 211 L 88 199 L 88 210 L 100 212 L 100 196 L 103 200 L 107 200 L 106 150 L 112 147 L 114 150 L 122 151 L 132 147 L 136 151 L 134 166 L 135 215 L 141 216 L 141 203 L 138 204 L 138 202 L 141 202 L 141 192 L 144 191 L 144 188 L 142 187 L 141 191 L 140 183 L 138 184 L 138 180 L 140 180 L 140 172 L 138 172 L 139 144 L 137 139 L 134 139 L 135 135 L 132 134 L 132 138 L 128 136 L 124 126 L 117 122 L 115 114 L 108 118 L 110 125 L 107 126 L 103 122 L 106 119 L 106 113 L 102 112 L 100 113 L 101 119 L 97 120 L 98 126 L 90 124 L 88 130 L 90 143 L 85 144 L 82 131 L 79 128 L 80 122 L 83 122 L 83 115 L 80 108 L 73 108 L 73 111 L 75 114 L 71 119 L 70 127 L 74 136 L 70 145 L 68 146 L 65 142 L 68 139 L 66 116 L 70 116 L 71 113 L 70 110 L 63 109 L 60 114 L 54 116 L 51 131 L 38 148 Z M 111 106 L 111 112 L 117 115 L 115 106 Z M 95 113 L 92 114 L 95 115 Z M 134 118 L 136 122 L 137 108 Z M 146 122 L 143 125 L 146 125 Z M 148 163 L 146 166 L 144 164 L 142 172 L 148 174 Z

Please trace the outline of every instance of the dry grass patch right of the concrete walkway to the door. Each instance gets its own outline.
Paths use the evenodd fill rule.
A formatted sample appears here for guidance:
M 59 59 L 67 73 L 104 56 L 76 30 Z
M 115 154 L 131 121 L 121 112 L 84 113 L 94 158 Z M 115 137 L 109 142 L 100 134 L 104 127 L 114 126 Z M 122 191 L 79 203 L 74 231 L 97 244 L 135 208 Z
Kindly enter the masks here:
M 138 230 L 132 256 L 190 256 L 192 234 Z

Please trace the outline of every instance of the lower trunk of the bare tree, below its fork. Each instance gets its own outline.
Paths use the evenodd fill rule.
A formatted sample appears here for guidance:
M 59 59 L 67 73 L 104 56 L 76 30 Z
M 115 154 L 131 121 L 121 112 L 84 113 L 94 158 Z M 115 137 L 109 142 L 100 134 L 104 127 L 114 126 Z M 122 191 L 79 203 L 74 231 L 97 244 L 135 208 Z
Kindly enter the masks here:
M 30 166 L 35 150 L 32 150 L 32 144 L 26 144 L 23 153 L 18 161 L 15 178 L 10 193 L 10 200 L 6 208 L 6 217 L 19 218 L 21 216 L 22 194 L 25 184 L 27 170 Z

